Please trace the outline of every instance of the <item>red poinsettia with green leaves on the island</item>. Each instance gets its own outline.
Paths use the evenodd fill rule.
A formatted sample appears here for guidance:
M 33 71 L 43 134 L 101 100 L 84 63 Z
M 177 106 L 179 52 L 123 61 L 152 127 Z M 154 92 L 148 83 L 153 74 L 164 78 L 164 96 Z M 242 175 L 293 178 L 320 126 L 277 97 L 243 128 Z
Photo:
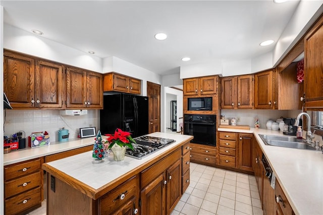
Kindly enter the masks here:
M 109 148 L 111 148 L 115 143 L 117 143 L 119 146 L 128 146 L 133 150 L 133 146 L 131 143 L 136 143 L 134 139 L 131 137 L 131 133 L 127 131 L 122 131 L 120 128 L 117 128 L 115 131 L 115 134 L 105 134 L 106 136 L 109 136 L 107 138 L 107 141 L 110 142 Z

